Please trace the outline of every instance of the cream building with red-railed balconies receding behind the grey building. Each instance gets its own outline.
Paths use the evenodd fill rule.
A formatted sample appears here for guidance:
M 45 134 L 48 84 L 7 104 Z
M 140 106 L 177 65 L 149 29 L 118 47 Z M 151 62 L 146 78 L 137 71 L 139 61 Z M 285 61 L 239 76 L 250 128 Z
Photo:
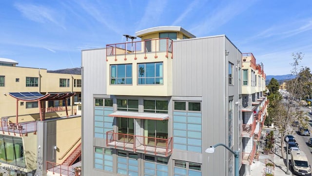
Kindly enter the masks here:
M 256 154 L 257 141 L 267 115 L 267 100 L 264 92 L 266 75 L 263 64 L 256 64 L 253 53 L 243 53 L 242 57 L 242 173 L 251 172 L 251 164 Z

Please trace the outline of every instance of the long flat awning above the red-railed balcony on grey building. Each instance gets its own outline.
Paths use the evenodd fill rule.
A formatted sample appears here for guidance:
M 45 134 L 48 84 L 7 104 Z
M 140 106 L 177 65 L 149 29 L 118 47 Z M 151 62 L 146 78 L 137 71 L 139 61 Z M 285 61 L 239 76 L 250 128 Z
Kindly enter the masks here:
M 108 116 L 124 117 L 124 118 L 137 118 L 137 119 L 150 119 L 150 120 L 168 120 L 168 118 L 169 118 L 168 114 L 121 112 L 121 111 L 111 113 Z

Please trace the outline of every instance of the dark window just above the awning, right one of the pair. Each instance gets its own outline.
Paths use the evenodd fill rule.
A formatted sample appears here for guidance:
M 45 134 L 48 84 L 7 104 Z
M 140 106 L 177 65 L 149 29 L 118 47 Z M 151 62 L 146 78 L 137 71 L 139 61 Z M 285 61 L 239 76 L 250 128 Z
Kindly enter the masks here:
M 168 101 L 144 100 L 144 112 L 168 113 Z

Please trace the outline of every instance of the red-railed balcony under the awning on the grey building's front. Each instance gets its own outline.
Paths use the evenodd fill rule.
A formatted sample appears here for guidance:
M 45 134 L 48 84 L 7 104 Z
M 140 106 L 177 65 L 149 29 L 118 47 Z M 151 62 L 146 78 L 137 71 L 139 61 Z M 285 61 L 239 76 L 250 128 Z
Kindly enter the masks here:
M 119 150 L 167 157 L 172 153 L 172 137 L 147 137 L 133 134 L 106 132 L 106 145 Z

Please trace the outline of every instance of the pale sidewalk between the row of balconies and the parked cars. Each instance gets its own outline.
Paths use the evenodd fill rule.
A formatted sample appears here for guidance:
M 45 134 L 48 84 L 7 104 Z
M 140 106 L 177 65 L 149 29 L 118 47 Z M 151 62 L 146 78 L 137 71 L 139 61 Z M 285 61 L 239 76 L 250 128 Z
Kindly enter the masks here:
M 254 159 L 254 163 L 251 165 L 251 176 L 265 176 L 265 162 L 273 162 L 274 163 L 274 169 L 272 169 L 272 172 L 274 176 L 292 176 L 291 172 L 291 166 L 289 167 L 289 173 L 290 175 L 286 175 L 287 167 L 286 167 L 286 152 L 284 151 L 284 147 L 280 147 L 281 145 L 281 139 L 277 136 L 275 138 L 275 144 L 274 144 L 274 152 L 272 154 L 263 154 L 263 149 L 261 147 L 258 148 L 259 152 L 259 159 L 258 161 Z M 284 144 L 285 145 L 285 144 Z M 276 151 L 275 151 L 276 149 Z M 284 152 L 285 159 L 282 158 L 281 152 Z

